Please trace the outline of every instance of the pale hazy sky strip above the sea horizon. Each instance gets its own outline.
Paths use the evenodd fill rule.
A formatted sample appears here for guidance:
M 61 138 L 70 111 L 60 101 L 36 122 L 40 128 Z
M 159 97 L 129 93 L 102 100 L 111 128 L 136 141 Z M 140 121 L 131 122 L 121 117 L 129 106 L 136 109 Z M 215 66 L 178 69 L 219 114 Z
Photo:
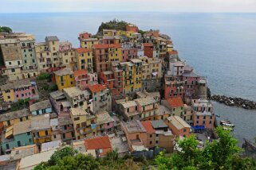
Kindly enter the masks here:
M 256 0 L 0 0 L 0 13 L 86 11 L 256 12 Z

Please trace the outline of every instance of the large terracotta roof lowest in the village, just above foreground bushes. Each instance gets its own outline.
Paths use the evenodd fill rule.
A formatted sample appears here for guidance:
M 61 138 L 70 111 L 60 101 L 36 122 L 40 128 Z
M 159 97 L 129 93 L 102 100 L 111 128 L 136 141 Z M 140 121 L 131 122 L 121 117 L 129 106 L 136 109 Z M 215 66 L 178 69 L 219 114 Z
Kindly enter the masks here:
M 111 144 L 108 136 L 104 137 L 93 137 L 85 139 L 85 148 L 86 149 L 111 149 Z

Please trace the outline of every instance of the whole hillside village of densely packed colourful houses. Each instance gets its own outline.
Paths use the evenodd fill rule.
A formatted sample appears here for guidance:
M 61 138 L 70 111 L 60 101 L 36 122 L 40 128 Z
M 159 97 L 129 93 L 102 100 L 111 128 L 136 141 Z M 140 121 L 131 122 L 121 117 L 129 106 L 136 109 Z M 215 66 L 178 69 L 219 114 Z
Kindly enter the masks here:
M 127 24 L 78 41 L 0 33 L 0 164 L 31 169 L 65 145 L 152 158 L 197 132 L 203 147 L 216 126 L 207 77 L 170 37 Z

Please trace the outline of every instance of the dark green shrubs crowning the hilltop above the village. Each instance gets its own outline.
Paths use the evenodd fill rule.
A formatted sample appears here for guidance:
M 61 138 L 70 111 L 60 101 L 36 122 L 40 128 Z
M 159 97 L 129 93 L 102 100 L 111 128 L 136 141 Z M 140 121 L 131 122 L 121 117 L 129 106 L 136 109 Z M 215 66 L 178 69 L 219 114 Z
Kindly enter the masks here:
M 126 21 L 118 21 L 116 19 L 113 19 L 112 21 L 108 22 L 102 22 L 98 29 L 98 33 L 102 33 L 103 29 L 116 29 L 125 31 L 126 25 L 128 25 Z

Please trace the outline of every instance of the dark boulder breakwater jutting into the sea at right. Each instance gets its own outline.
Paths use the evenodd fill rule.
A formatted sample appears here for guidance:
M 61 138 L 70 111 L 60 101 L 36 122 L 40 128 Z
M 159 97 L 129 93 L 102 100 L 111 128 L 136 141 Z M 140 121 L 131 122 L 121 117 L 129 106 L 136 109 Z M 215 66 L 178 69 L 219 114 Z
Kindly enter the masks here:
M 227 97 L 225 95 L 211 95 L 210 99 L 216 102 L 223 103 L 226 106 L 238 106 L 247 110 L 256 109 L 256 102 L 247 99 Z

